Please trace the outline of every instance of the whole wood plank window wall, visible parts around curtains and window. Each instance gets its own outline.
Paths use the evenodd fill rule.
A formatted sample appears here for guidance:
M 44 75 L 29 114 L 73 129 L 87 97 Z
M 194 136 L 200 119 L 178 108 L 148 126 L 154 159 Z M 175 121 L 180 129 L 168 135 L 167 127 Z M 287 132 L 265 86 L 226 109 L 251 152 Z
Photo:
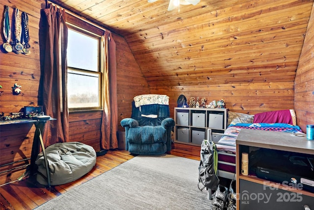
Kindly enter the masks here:
M 0 13 L 3 14 L 4 5 L 9 6 L 12 20 L 13 8 L 25 11 L 29 18 L 29 34 L 31 54 L 29 56 L 5 53 L 0 51 L 0 112 L 8 115 L 19 112 L 24 106 L 38 105 L 38 86 L 40 79 L 39 60 L 39 20 L 40 9 L 45 0 L 5 0 L 0 2 Z M 1 25 L 2 29 L 2 25 Z M 2 34 L 2 32 L 1 32 Z M 131 101 L 137 94 L 148 93 L 148 84 L 139 70 L 131 50 L 125 39 L 113 34 L 117 46 L 117 86 L 118 86 L 118 115 L 120 120 L 131 117 Z M 4 40 L 1 35 L 0 43 Z M 11 87 L 18 83 L 22 86 L 20 95 L 12 95 Z M 78 141 L 91 145 L 96 151 L 100 148 L 101 111 L 74 112 L 69 116 L 70 141 Z M 120 126 L 122 131 L 123 128 Z M 35 127 L 30 124 L 0 127 L 0 185 L 16 180 L 25 171 L 27 158 L 30 158 L 31 146 Z M 19 163 L 13 161 L 24 160 Z M 10 171 L 14 167 L 21 167 Z

